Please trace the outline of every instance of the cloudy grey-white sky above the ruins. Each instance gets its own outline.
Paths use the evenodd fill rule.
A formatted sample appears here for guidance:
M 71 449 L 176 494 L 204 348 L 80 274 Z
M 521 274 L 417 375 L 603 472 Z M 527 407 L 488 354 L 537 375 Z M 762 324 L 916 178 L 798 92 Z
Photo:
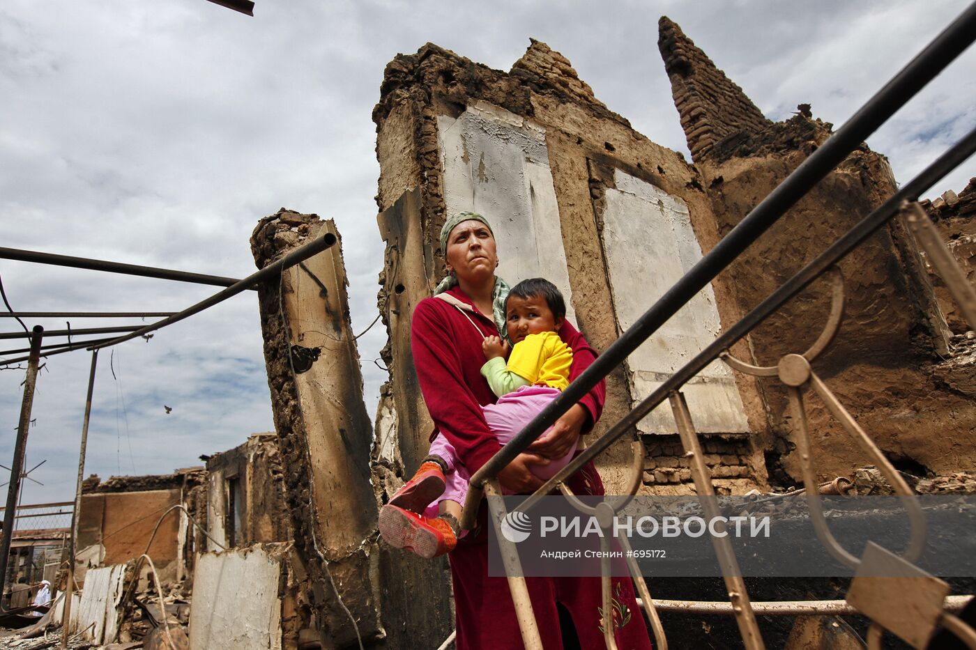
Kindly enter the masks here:
M 358 332 L 376 316 L 383 262 L 370 114 L 397 53 L 430 41 L 508 70 L 530 37 L 540 39 L 634 128 L 687 156 L 657 50 L 660 16 L 767 116 L 785 119 L 807 102 L 839 125 L 966 5 L 257 0 L 249 18 L 205 0 L 5 0 L 0 246 L 243 277 L 254 271 L 248 239 L 260 218 L 283 206 L 312 212 L 343 234 Z M 969 51 L 869 141 L 900 181 L 976 124 L 974 70 Z M 958 191 L 970 176 L 971 160 L 930 195 Z M 217 291 L 10 261 L 0 261 L 0 278 L 21 311 L 176 311 Z M 65 327 L 27 325 L 37 322 Z M 0 319 L 0 332 L 19 330 Z M 377 326 L 359 341 L 372 414 L 386 332 Z M 40 375 L 26 467 L 46 461 L 31 474 L 44 486 L 28 481 L 24 504 L 73 498 L 90 361 L 83 350 L 53 356 Z M 4 465 L 22 381 L 21 370 L 0 371 Z M 86 473 L 199 465 L 200 454 L 271 428 L 257 301 L 247 293 L 149 342 L 102 351 Z

